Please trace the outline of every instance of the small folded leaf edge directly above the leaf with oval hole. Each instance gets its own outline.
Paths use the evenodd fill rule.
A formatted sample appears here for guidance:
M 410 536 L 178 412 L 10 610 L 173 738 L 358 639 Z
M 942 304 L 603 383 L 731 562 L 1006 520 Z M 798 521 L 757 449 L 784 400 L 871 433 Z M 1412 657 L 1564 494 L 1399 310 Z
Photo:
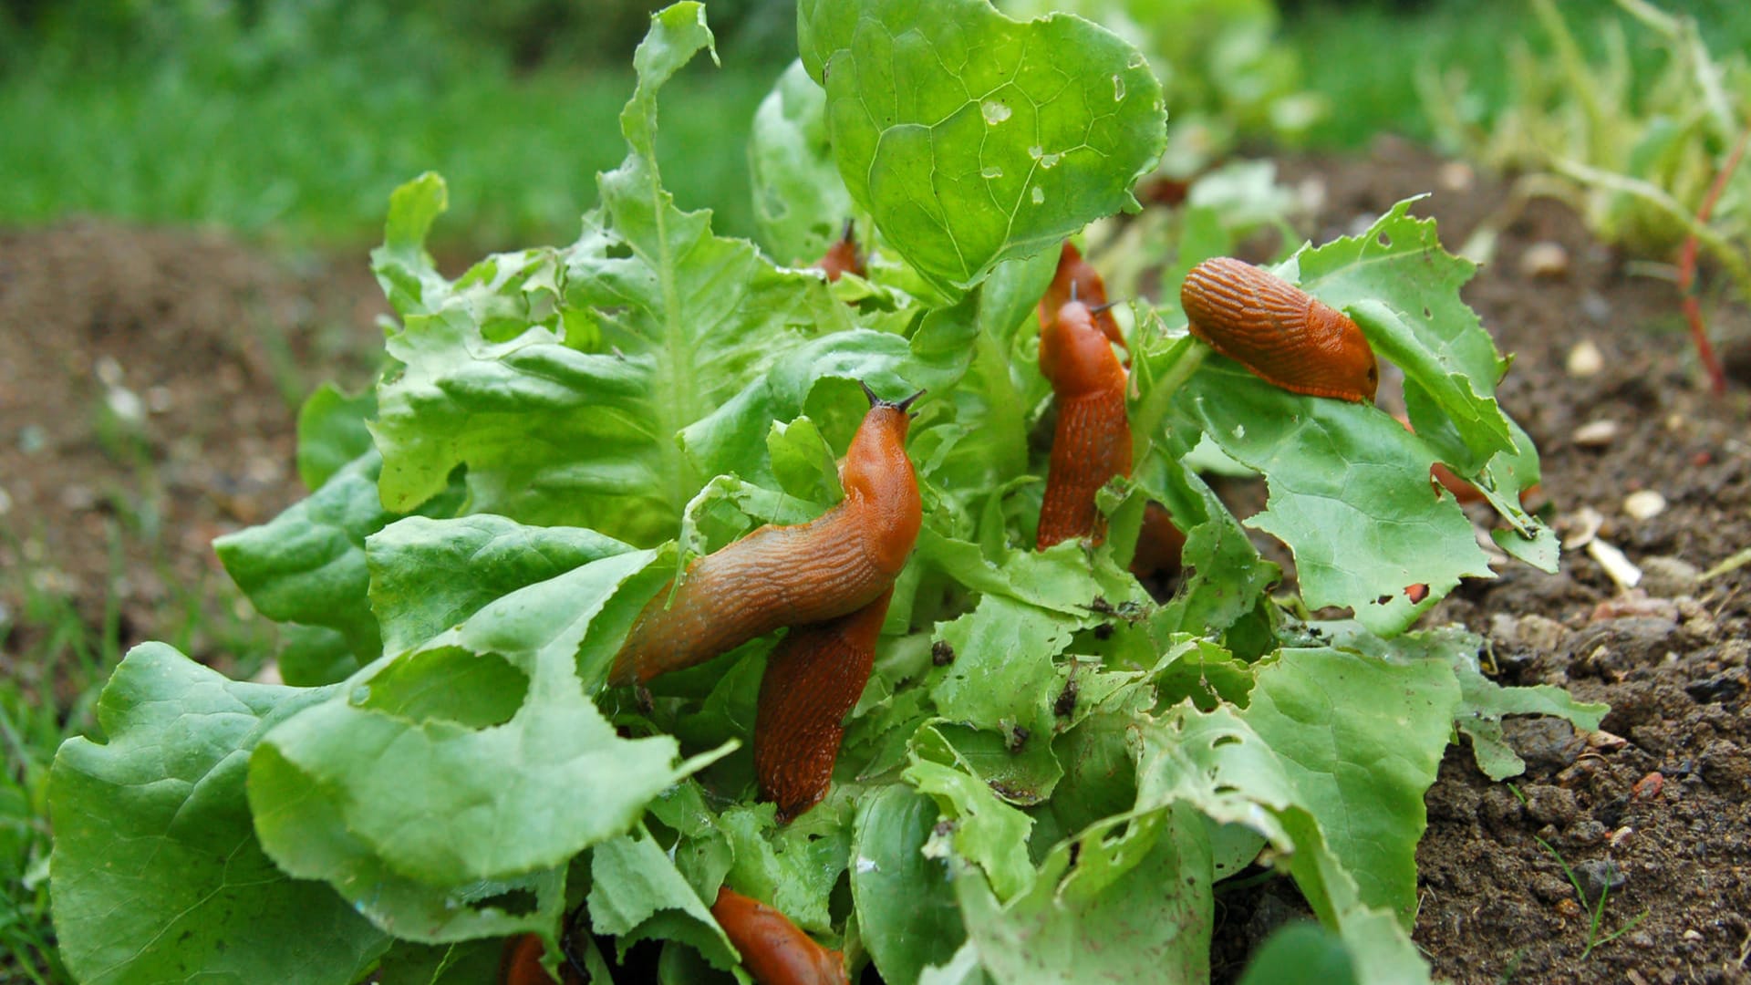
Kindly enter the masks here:
M 496 598 L 627 550 L 590 529 L 531 528 L 494 515 L 389 524 L 364 543 L 383 650 L 401 654 Z

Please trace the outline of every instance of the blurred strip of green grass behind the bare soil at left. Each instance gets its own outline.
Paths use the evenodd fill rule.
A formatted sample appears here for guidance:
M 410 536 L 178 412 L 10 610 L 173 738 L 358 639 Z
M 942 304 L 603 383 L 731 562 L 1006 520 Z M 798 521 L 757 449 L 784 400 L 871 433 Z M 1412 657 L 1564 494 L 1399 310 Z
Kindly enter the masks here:
M 742 145 L 777 70 L 690 72 L 664 93 L 664 179 L 685 207 L 718 203 L 723 231 L 751 230 Z M 625 154 L 630 91 L 630 75 L 560 72 L 438 84 L 313 72 L 259 89 L 180 74 L 11 77 L 0 224 L 89 214 L 347 249 L 376 242 L 397 184 L 438 170 L 452 189 L 440 249 L 569 242 L 595 174 Z

